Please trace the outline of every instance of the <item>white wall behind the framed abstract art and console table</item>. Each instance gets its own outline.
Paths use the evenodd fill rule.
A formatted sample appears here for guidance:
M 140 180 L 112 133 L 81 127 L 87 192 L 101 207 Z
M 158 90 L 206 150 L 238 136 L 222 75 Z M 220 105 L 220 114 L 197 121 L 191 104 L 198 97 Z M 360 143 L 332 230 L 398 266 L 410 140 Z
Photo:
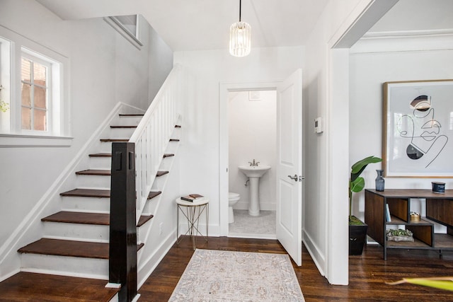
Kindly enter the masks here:
M 453 41 L 452 36 L 446 37 Z M 398 45 L 396 45 L 396 43 Z M 382 156 L 382 85 L 386 81 L 453 79 L 452 42 L 439 37 L 399 37 L 361 40 L 350 54 L 350 163 L 367 156 Z M 448 159 L 447 159 L 448 160 Z M 363 175 L 365 187 L 374 188 L 375 169 Z M 430 178 L 386 178 L 386 188 L 430 189 Z M 435 179 L 453 187 L 453 180 Z M 364 193 L 356 194 L 354 212 L 361 218 Z

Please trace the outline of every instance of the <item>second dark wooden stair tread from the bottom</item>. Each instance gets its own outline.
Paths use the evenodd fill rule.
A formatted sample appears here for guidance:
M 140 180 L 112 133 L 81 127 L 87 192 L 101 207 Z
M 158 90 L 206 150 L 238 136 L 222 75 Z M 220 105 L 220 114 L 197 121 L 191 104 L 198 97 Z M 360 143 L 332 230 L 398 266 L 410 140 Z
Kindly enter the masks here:
M 137 245 L 137 250 L 143 246 L 143 243 Z M 41 238 L 18 249 L 18 252 L 108 260 L 109 251 L 108 243 Z

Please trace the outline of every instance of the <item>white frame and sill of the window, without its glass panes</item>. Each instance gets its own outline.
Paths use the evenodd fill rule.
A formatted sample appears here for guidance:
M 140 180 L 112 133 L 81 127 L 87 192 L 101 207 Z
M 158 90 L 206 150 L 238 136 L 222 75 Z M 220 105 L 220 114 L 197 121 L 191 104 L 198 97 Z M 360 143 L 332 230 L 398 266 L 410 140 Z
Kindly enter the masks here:
M 0 59 L 10 63 L 10 79 L 3 81 L 2 98 L 8 92 L 10 104 L 9 129 L 1 124 L 0 148 L 4 147 L 36 147 L 36 146 L 71 146 L 69 121 L 69 59 L 38 42 L 13 32 L 0 25 L 0 37 L 9 41 L 9 53 L 6 47 L 0 47 Z M 0 40 L 1 42 L 1 40 Z M 1 46 L 1 45 L 0 45 Z M 48 110 L 47 131 L 22 130 L 21 119 L 21 57 L 31 56 L 35 60 L 50 64 L 51 88 L 48 91 L 50 107 Z M 2 69 L 3 69 L 2 65 Z M 5 100 L 6 101 L 6 100 Z M 1 112 L 0 112 L 1 114 Z

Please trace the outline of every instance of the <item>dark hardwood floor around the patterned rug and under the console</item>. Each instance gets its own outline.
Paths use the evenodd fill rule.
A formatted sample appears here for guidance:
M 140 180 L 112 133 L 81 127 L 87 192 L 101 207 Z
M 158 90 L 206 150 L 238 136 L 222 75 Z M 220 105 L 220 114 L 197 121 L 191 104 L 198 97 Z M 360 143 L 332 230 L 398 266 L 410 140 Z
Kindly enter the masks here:
M 244 252 L 285 253 L 277 240 L 245 238 L 199 238 L 197 248 L 239 250 Z M 139 289 L 140 302 L 168 301 L 193 254 L 192 242 L 186 237 L 173 245 L 151 276 Z M 348 286 L 328 284 L 319 274 L 307 250 L 302 251 L 302 267 L 294 267 L 304 298 L 309 301 L 453 301 L 452 291 L 431 289 L 412 284 L 387 285 L 404 277 L 453 276 L 453 252 L 442 259 L 436 252 L 423 250 L 388 250 L 382 259 L 382 248 L 368 245 L 360 256 L 350 256 Z M 294 265 L 294 263 L 293 263 Z

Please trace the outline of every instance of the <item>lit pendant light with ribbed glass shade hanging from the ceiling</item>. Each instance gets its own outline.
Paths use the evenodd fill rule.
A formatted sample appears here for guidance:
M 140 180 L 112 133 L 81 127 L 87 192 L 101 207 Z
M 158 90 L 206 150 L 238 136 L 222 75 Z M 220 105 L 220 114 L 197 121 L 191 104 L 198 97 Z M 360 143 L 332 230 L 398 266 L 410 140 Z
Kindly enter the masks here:
M 229 28 L 229 53 L 234 57 L 246 57 L 251 49 L 251 27 L 241 21 L 241 0 L 239 0 L 239 22 Z

